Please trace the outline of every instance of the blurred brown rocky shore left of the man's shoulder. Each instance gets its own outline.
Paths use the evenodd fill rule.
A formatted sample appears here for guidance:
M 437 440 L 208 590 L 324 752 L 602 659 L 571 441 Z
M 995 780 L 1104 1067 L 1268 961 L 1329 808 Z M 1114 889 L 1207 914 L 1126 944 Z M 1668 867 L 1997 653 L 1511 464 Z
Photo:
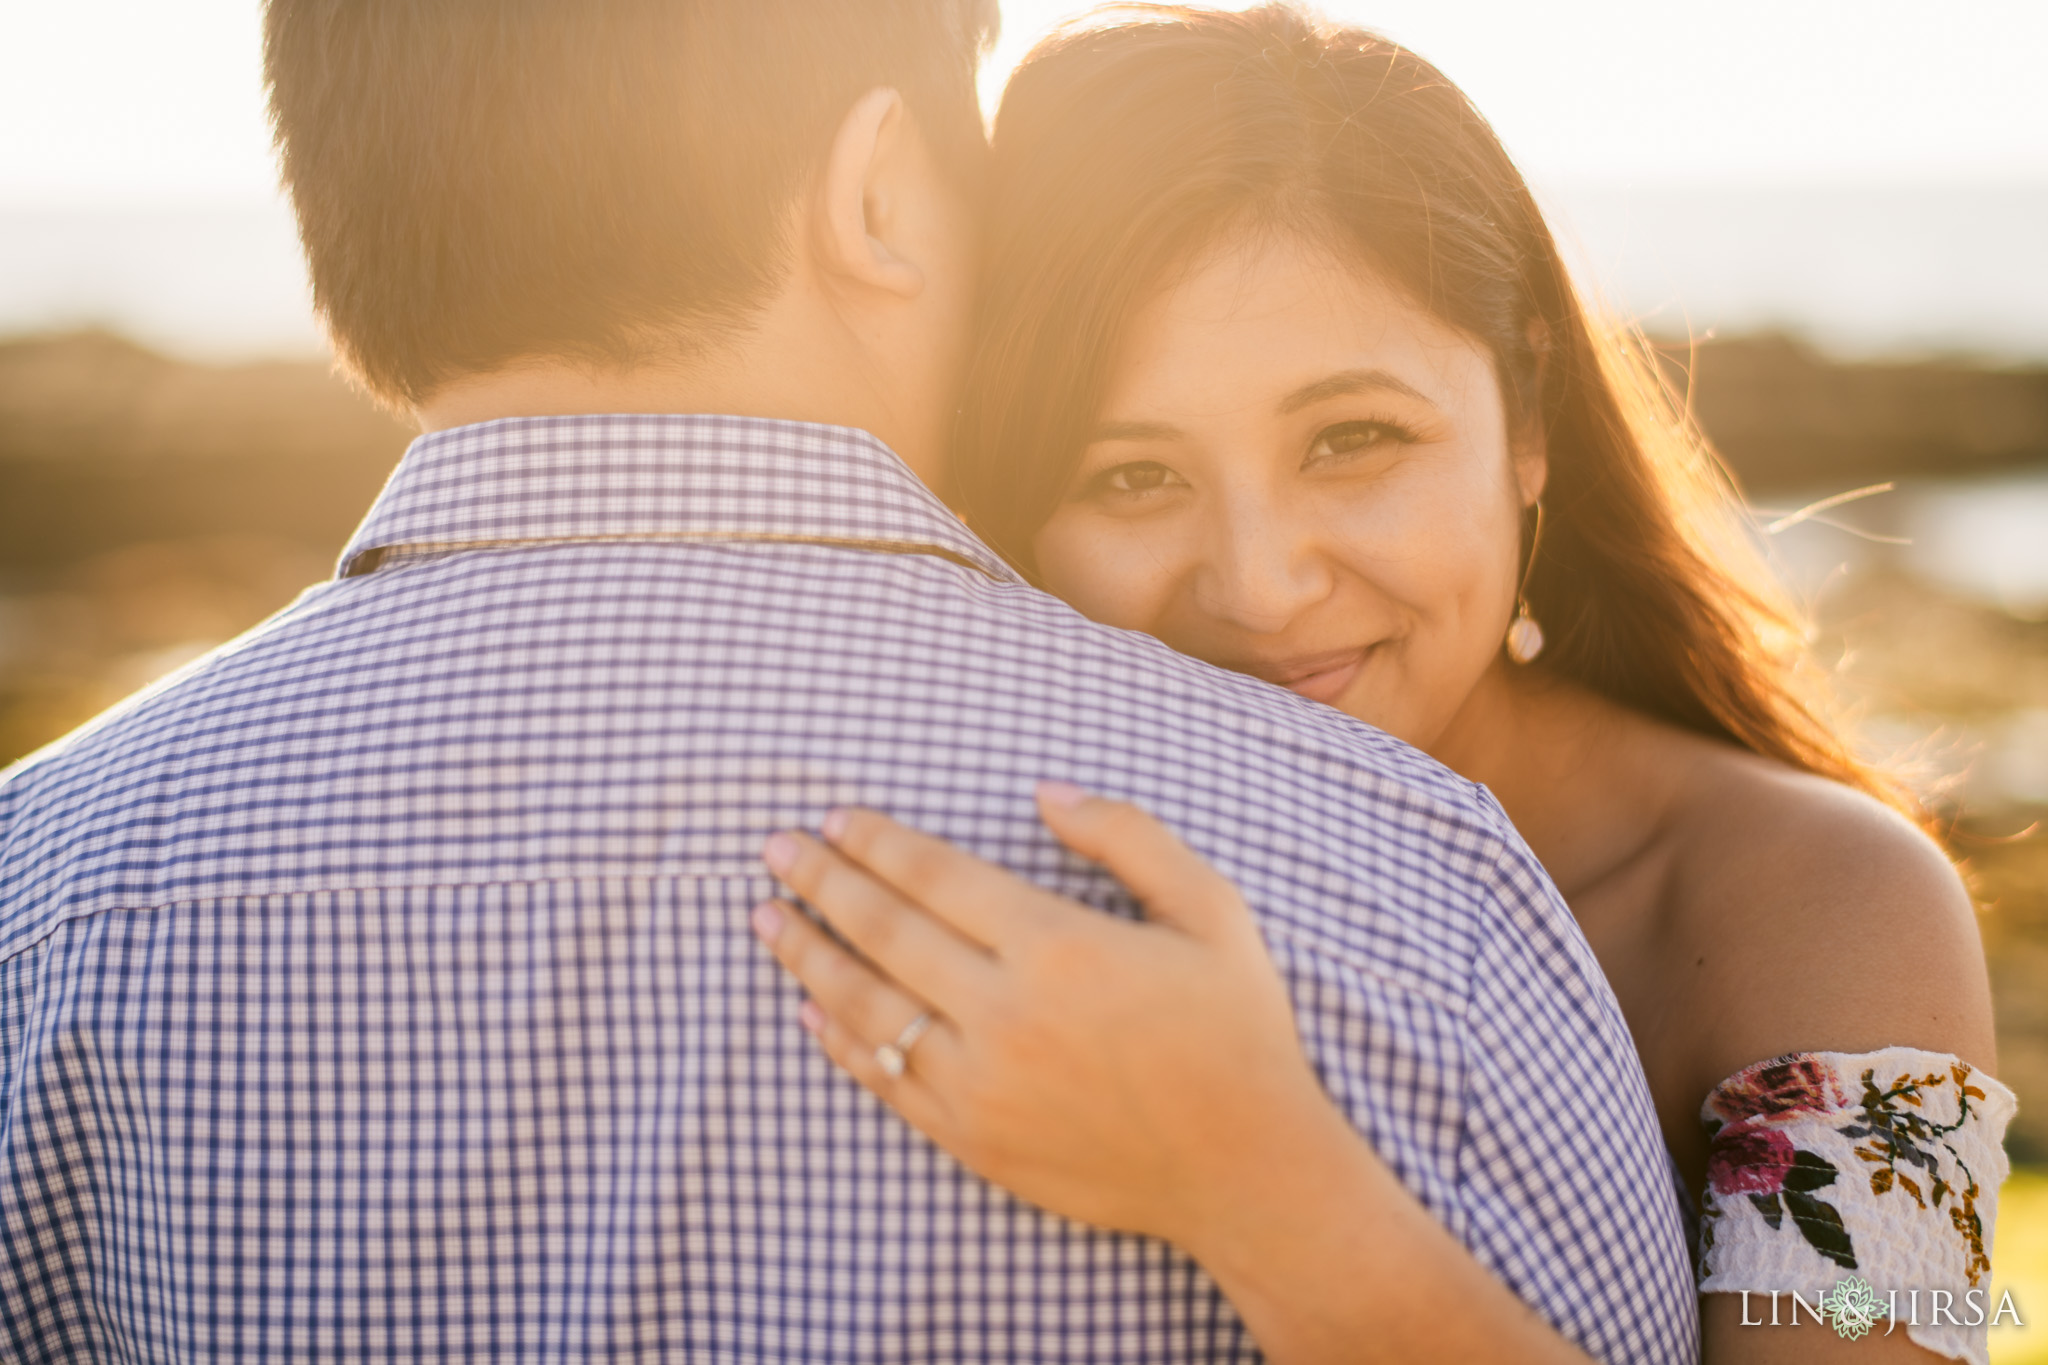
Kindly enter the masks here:
M 0 763 L 330 575 L 408 440 L 322 364 L 0 344 Z

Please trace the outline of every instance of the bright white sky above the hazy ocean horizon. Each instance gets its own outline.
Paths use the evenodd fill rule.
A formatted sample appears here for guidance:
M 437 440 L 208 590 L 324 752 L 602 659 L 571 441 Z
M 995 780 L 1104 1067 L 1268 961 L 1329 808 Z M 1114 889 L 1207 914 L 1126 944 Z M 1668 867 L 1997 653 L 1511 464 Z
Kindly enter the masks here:
M 991 88 L 1085 6 L 1006 0 Z M 1464 84 L 1536 176 L 2048 178 L 2048 4 L 1337 0 Z M 0 20 L 0 203 L 262 196 L 256 0 Z

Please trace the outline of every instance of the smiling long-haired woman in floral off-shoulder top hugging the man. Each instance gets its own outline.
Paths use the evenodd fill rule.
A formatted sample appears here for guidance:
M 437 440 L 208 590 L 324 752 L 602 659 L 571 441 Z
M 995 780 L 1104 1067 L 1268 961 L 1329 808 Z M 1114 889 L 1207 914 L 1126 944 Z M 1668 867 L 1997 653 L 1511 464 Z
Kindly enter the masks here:
M 1802 700 L 1710 460 L 1485 121 L 1372 35 L 1161 10 L 1026 61 L 993 194 L 967 518 L 1081 612 L 1493 790 L 1634 1033 L 1708 1359 L 1980 1361 L 2011 1095 L 1968 896 Z M 1040 808 L 1147 923 L 874 812 L 770 841 L 862 954 L 758 913 L 825 1050 L 1022 1197 L 1180 1240 L 1276 1359 L 1583 1359 L 1331 1124 L 1235 890 L 1130 806 Z M 948 956 L 1004 986 L 946 999 Z M 1741 1289 L 1851 1269 L 1956 1322 L 1901 1293 L 1921 1324 L 1864 1340 L 1743 1326 Z

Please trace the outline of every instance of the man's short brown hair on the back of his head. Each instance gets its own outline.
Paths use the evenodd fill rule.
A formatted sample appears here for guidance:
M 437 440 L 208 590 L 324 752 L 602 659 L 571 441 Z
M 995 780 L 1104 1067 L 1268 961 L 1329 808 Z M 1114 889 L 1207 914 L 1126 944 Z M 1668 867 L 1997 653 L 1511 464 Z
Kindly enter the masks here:
M 967 184 L 995 0 L 266 0 L 313 303 L 391 403 L 522 356 L 711 344 L 862 92 Z

